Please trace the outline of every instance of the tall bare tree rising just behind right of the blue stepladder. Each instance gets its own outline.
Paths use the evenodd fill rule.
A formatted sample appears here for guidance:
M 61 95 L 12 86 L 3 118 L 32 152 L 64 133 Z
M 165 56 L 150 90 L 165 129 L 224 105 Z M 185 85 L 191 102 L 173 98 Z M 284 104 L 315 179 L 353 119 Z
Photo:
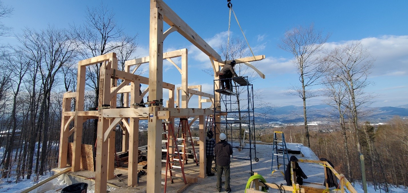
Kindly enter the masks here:
M 282 43 L 278 47 L 285 50 L 295 57 L 292 61 L 299 74 L 299 86 L 292 86 L 293 92 L 289 94 L 299 96 L 303 100 L 303 118 L 306 132 L 306 143 L 310 147 L 309 130 L 306 115 L 306 100 L 319 95 L 311 87 L 319 84 L 319 80 L 326 71 L 325 65 L 321 63 L 321 51 L 324 43 L 329 38 L 329 34 L 324 35 L 322 31 L 316 31 L 313 24 L 309 27 L 295 27 L 286 31 L 282 38 Z

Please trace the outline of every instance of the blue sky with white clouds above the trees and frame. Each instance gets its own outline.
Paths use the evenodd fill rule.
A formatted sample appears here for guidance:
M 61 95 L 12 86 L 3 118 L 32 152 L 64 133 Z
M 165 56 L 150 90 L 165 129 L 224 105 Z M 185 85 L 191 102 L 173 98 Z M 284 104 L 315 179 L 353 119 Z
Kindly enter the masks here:
M 146 56 L 149 50 L 149 1 L 102 1 L 111 7 L 115 19 L 128 34 L 138 34 L 137 54 Z M 226 0 L 165 0 L 165 2 L 205 39 L 215 50 L 226 38 L 228 7 Z M 243 1 L 231 0 L 233 9 L 255 55 L 266 59 L 254 62 L 266 79 L 257 79 L 254 87 L 276 106 L 297 105 L 297 96 L 288 96 L 288 86 L 297 84 L 296 69 L 290 63 L 292 55 L 277 48 L 286 30 L 295 26 L 315 24 L 316 29 L 331 33 L 327 47 L 359 40 L 376 58 L 368 80 L 375 83 L 366 92 L 379 96 L 375 106 L 408 104 L 408 1 L 344 0 L 344 1 Z M 97 7 L 100 0 L 4 0 L 14 8 L 10 18 L 2 22 L 20 33 L 24 27 L 45 29 L 48 24 L 69 28 L 69 24 L 82 24 L 86 7 Z M 404 8 L 405 7 L 405 8 Z M 166 28 L 166 27 L 165 27 Z M 235 20 L 231 22 L 233 37 L 243 38 Z M 15 44 L 13 37 L 1 37 L 0 42 Z M 185 40 L 172 33 L 164 42 L 164 50 L 188 49 L 189 85 L 203 85 L 212 93 L 213 77 L 202 72 L 210 68 L 208 57 Z M 220 53 L 220 52 L 219 52 Z M 177 61 L 177 60 L 176 60 Z M 165 63 L 164 81 L 180 85 L 177 70 Z M 146 75 L 147 76 L 147 75 Z M 308 105 L 322 104 L 315 98 Z

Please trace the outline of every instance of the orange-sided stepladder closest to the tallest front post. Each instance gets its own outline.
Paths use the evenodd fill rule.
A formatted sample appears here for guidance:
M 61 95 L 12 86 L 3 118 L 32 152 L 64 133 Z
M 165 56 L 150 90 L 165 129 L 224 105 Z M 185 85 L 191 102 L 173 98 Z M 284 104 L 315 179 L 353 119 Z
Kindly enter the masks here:
M 167 177 L 170 177 L 170 181 L 173 184 L 174 179 L 180 179 L 184 181 L 184 184 L 187 184 L 186 175 L 184 173 L 184 164 L 182 162 L 182 154 L 180 154 L 179 146 L 176 143 L 176 137 L 174 134 L 174 127 L 171 121 L 163 121 L 163 136 L 166 140 L 162 140 L 162 143 L 166 144 L 166 149 L 162 149 L 162 152 L 166 152 L 166 171 L 164 176 L 164 193 L 166 192 L 167 187 Z M 182 177 L 177 177 L 173 172 L 179 172 L 182 174 Z M 163 173 L 163 171 L 162 171 Z

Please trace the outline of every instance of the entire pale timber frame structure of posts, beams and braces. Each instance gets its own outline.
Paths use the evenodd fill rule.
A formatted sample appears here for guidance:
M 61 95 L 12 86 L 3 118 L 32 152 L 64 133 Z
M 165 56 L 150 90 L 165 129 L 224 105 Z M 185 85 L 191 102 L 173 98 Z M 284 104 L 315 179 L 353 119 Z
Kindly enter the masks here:
M 164 31 L 163 22 L 169 24 L 170 28 Z M 172 32 L 177 31 L 188 41 L 194 44 L 202 52 L 208 55 L 213 66 L 214 77 L 218 79 L 220 67 L 231 61 L 223 61 L 221 56 L 209 46 L 190 26 L 188 26 L 163 0 L 150 1 L 150 35 L 149 56 L 126 61 L 124 71 L 118 70 L 118 60 L 115 53 L 109 53 L 78 62 L 78 82 L 76 92 L 66 92 L 62 101 L 62 121 L 60 136 L 60 159 L 59 168 L 71 165 L 72 171 L 80 170 L 80 155 L 82 141 L 82 123 L 86 119 L 98 119 L 97 141 L 96 141 L 96 163 L 95 163 L 95 192 L 105 193 L 106 182 L 114 178 L 114 155 L 115 155 L 115 132 L 113 130 L 118 124 L 122 124 L 124 132 L 122 151 L 129 150 L 128 186 L 137 186 L 137 149 L 139 121 L 148 120 L 148 144 L 147 144 L 147 192 L 162 192 L 162 120 L 173 121 L 174 118 L 194 117 L 193 121 L 199 119 L 199 152 L 205 155 L 205 117 L 213 115 L 213 109 L 201 109 L 201 103 L 211 102 L 211 107 L 219 101 L 220 94 L 208 94 L 201 92 L 201 86 L 188 86 L 188 63 L 187 49 L 175 50 L 163 53 L 164 39 Z M 181 68 L 171 58 L 181 57 Z M 249 62 L 264 59 L 265 55 L 235 59 L 236 63 L 244 63 L 253 68 L 260 77 L 265 76 L 252 66 Z M 163 59 L 170 61 L 181 74 L 181 88 L 175 88 L 174 84 L 163 82 Z M 137 69 L 140 65 L 149 63 L 149 77 L 142 77 L 130 72 L 130 67 Z M 86 66 L 102 64 L 99 80 L 99 105 L 97 111 L 84 110 L 85 93 L 85 71 Z M 122 83 L 118 85 L 118 79 Z M 218 82 L 218 81 L 217 81 Z M 140 95 L 139 84 L 147 85 L 148 88 Z M 219 88 L 219 83 L 215 85 Z M 143 96 L 149 91 L 150 101 L 162 101 L 163 88 L 169 90 L 169 100 L 159 105 L 139 107 L 132 105 L 139 103 Z M 194 90 L 194 89 L 199 90 Z M 217 89 L 215 88 L 215 89 Z M 181 90 L 181 99 L 178 96 Z M 175 93 L 177 92 L 177 100 Z M 124 94 L 124 107 L 116 108 L 116 96 Z M 188 101 L 195 94 L 199 96 L 199 108 L 188 108 Z M 208 99 L 202 99 L 202 97 Z M 75 110 L 71 111 L 71 100 L 75 99 Z M 217 100 L 214 100 L 217 99 Z M 175 104 L 179 106 L 175 108 Z M 220 122 L 222 115 L 216 115 L 215 121 Z M 192 121 L 192 122 L 193 122 Z M 70 124 L 73 122 L 73 127 Z M 219 128 L 219 127 L 218 127 Z M 220 131 L 216 131 L 215 139 L 219 140 Z M 67 163 L 68 138 L 73 135 L 72 162 Z M 129 145 L 129 149 L 126 149 Z M 205 156 L 200 156 L 199 178 L 205 177 Z

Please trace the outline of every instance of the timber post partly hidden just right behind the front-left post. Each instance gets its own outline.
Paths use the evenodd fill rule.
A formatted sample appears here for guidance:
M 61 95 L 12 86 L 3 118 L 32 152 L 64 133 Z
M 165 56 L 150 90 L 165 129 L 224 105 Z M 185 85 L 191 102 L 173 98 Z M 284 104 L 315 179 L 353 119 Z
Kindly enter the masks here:
M 109 95 L 104 97 L 104 104 L 109 104 L 111 107 L 116 108 L 116 94 L 111 97 L 111 88 L 118 86 L 118 79 L 116 77 L 110 78 L 113 74 L 113 70 L 118 70 L 118 59 L 116 57 L 113 57 L 109 60 L 109 65 L 111 65 L 110 70 L 106 70 L 109 77 L 105 77 L 105 81 L 109 81 L 110 85 L 107 86 L 109 87 Z M 106 92 L 107 94 L 107 92 Z M 109 125 L 113 122 L 113 119 L 109 120 Z M 116 126 L 115 126 L 116 128 Z M 115 171 L 115 132 L 112 131 L 109 135 L 108 139 L 108 180 L 115 178 L 114 171 Z

